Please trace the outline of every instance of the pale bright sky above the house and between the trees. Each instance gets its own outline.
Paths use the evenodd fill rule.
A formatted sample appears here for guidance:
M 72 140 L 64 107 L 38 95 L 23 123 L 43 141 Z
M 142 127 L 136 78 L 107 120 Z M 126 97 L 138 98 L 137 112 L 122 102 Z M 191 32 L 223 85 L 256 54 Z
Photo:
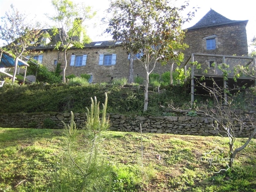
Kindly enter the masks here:
M 111 36 L 101 35 L 106 26 L 100 24 L 100 19 L 105 15 L 104 10 L 108 7 L 108 0 L 73 0 L 74 2 L 85 2 L 97 11 L 97 15 L 89 22 L 88 35 L 93 41 L 111 40 Z M 86 2 L 88 1 L 88 2 Z M 175 3 L 182 4 L 183 0 L 176 0 Z M 0 0 L 0 17 L 13 4 L 19 11 L 23 11 L 31 18 L 39 20 L 42 24 L 49 23 L 45 13 L 54 13 L 51 0 Z M 256 36 L 256 1 L 252 0 L 190 0 L 188 9 L 193 6 L 197 9 L 195 17 L 184 28 L 194 25 L 202 18 L 210 8 L 232 20 L 249 20 L 247 25 L 247 37 L 250 43 Z

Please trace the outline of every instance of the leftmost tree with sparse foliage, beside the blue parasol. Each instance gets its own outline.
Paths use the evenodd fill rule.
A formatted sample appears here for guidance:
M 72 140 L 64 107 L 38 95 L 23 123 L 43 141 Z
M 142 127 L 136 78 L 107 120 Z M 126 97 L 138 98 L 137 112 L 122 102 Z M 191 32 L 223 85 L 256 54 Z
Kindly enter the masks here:
M 15 81 L 18 59 L 27 52 L 26 48 L 35 46 L 40 30 L 36 29 L 38 24 L 27 21 L 27 15 L 20 13 L 11 4 L 11 9 L 1 17 L 0 39 L 3 40 L 4 49 L 10 52 L 15 58 L 15 68 L 12 83 Z

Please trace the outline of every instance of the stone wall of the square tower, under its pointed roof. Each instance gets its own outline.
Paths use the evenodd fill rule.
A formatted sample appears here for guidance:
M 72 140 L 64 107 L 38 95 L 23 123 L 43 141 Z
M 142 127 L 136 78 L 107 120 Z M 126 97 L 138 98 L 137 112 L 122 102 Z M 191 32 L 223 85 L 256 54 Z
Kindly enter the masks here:
M 216 49 L 206 50 L 206 37 L 215 36 Z M 184 50 L 184 62 L 189 58 L 191 53 L 203 53 L 214 55 L 248 55 L 248 44 L 246 26 L 244 23 L 234 23 L 221 26 L 204 27 L 191 29 L 186 32 L 183 41 L 189 47 Z M 195 56 L 194 61 L 201 64 L 202 70 L 210 67 L 210 62 L 215 64 L 223 63 L 222 57 L 202 57 Z M 227 63 L 227 61 L 226 61 Z M 239 62 L 231 61 L 230 66 L 239 65 Z M 211 69 L 212 70 L 212 69 Z M 211 74 L 210 70 L 208 72 Z M 202 72 L 198 72 L 202 74 Z

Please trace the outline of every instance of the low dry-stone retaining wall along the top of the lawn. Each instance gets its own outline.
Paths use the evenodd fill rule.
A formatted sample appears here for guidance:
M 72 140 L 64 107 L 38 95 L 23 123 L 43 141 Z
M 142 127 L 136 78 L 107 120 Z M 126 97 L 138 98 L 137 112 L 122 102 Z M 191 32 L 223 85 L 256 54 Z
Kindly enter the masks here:
M 74 113 L 75 122 L 78 127 L 85 126 L 86 114 Z M 56 123 L 54 128 L 62 129 L 64 121 L 69 123 L 70 113 L 9 113 L 0 114 L 0 127 L 17 128 L 44 128 L 45 119 L 51 119 Z M 119 114 L 110 114 L 110 130 L 124 132 L 140 132 L 140 125 L 143 133 L 171 133 L 182 135 L 213 136 L 223 135 L 222 132 L 213 127 L 213 119 L 203 116 L 133 116 L 128 117 Z M 251 125 L 251 121 L 246 121 Z M 31 127 L 33 126 L 33 127 Z M 247 137 L 251 129 L 245 129 L 238 125 L 235 134 L 238 137 Z M 256 136 L 255 136 L 256 137 Z

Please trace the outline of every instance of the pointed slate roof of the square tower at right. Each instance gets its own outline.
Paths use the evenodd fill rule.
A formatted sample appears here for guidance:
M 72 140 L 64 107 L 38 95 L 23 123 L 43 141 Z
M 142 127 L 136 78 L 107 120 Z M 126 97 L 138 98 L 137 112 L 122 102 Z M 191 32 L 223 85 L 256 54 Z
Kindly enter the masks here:
M 187 28 L 190 29 L 198 29 L 203 27 L 211 27 L 211 26 L 218 26 L 218 25 L 226 25 L 232 23 L 239 23 L 244 22 L 247 25 L 248 20 L 231 20 L 227 17 L 224 17 L 220 13 L 216 12 L 213 9 L 210 9 L 195 25 L 192 27 Z

